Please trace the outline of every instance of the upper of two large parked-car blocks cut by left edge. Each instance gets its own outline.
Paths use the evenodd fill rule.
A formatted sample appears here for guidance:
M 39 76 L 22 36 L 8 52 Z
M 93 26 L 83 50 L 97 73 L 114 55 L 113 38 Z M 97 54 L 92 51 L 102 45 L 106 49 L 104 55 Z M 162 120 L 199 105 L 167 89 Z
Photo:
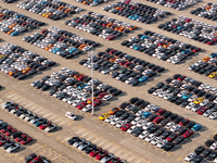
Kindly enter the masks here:
M 17 36 L 21 33 L 26 33 L 29 29 L 35 29 L 38 26 L 44 25 L 43 22 L 8 9 L 2 9 L 0 11 L 0 30 L 11 36 Z

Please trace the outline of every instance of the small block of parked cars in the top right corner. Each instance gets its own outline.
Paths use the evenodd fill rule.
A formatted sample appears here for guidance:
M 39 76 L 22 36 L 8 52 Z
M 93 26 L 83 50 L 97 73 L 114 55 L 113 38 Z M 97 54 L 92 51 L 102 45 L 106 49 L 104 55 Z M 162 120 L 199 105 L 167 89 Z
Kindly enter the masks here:
M 217 22 L 217 4 L 207 3 L 191 11 L 191 14 Z

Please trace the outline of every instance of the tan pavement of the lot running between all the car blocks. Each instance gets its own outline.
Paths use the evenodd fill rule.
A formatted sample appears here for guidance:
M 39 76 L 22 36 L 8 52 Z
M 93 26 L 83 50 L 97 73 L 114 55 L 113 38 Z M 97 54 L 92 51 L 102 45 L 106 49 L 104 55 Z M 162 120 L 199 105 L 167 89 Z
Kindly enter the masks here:
M 196 40 L 188 39 L 182 36 L 173 34 L 170 32 L 166 32 L 166 30 L 162 30 L 157 28 L 159 24 L 166 23 L 167 21 L 170 21 L 171 18 L 176 18 L 179 15 L 191 17 L 193 20 L 197 20 L 203 23 L 216 25 L 214 21 L 199 17 L 190 13 L 190 11 L 192 11 L 193 9 L 200 8 L 203 4 L 207 4 L 207 1 L 197 2 L 196 4 L 188 9 L 176 11 L 170 8 L 155 4 L 153 2 L 138 0 L 137 2 L 141 2 L 141 3 L 148 4 L 154 8 L 158 8 L 171 13 L 171 15 L 169 15 L 166 18 L 155 22 L 154 24 L 145 24 L 145 25 L 143 23 L 129 20 L 127 17 L 123 17 L 110 12 L 105 12 L 101 9 L 102 7 L 106 7 L 110 3 L 112 4 L 117 1 L 118 0 L 111 1 L 108 3 L 107 2 L 100 3 L 97 7 L 85 5 L 76 1 L 72 1 L 72 2 L 65 1 L 73 5 L 85 9 L 85 11 L 76 13 L 75 15 L 72 15 L 72 16 L 66 16 L 59 21 L 52 21 L 50 18 L 46 18 L 37 14 L 29 14 L 30 13 L 29 11 L 25 11 L 17 8 L 16 3 L 10 3 L 10 4 L 2 3 L 2 2 L 0 3 L 1 9 L 10 9 L 18 13 L 28 15 L 31 18 L 46 22 L 46 25 L 43 27 L 39 27 L 34 30 L 27 32 L 25 34 L 17 35 L 16 37 L 12 37 L 7 34 L 1 33 L 0 37 L 2 38 L 2 41 L 0 42 L 0 47 L 2 47 L 5 43 L 11 42 L 24 49 L 27 49 L 29 51 L 36 52 L 37 54 L 44 57 L 49 60 L 52 60 L 56 63 L 56 65 L 49 67 L 44 71 L 41 71 L 37 75 L 28 76 L 23 80 L 17 80 L 9 76 L 8 74 L 0 72 L 0 85 L 3 86 L 3 89 L 0 91 L 0 105 L 5 103 L 7 101 L 18 103 L 23 105 L 24 108 L 28 109 L 29 111 L 33 111 L 34 113 L 41 115 L 44 118 L 48 118 L 49 121 L 51 121 L 52 123 L 59 126 L 59 129 L 53 133 L 41 131 L 38 128 L 34 127 L 33 125 L 29 125 L 28 123 L 25 123 L 24 121 L 18 120 L 15 115 L 13 116 L 9 114 L 8 112 L 5 112 L 3 109 L 1 109 L 0 110 L 1 120 L 8 122 L 10 125 L 14 126 L 18 130 L 27 133 L 28 135 L 30 135 L 37 140 L 31 146 L 27 146 L 25 150 L 21 150 L 16 153 L 10 154 L 3 150 L 0 150 L 0 152 L 2 153 L 1 154 L 2 156 L 0 158 L 1 162 L 17 162 L 17 161 L 23 162 L 24 158 L 33 152 L 40 155 L 44 155 L 51 162 L 56 162 L 56 163 L 95 162 L 95 160 L 91 159 L 87 154 L 84 154 L 82 152 L 76 150 L 75 148 L 71 148 L 69 146 L 66 146 L 66 141 L 69 138 L 72 138 L 73 136 L 79 136 L 81 138 L 85 138 L 86 140 L 90 140 L 92 143 L 98 145 L 99 147 L 107 150 L 108 152 L 114 153 L 114 155 L 119 156 L 120 159 L 124 159 L 130 163 L 149 163 L 149 162 L 155 163 L 159 161 L 165 162 L 165 163 L 174 163 L 174 162 L 179 163 L 179 162 L 183 162 L 183 159 L 186 158 L 186 155 L 192 152 L 200 145 L 204 145 L 204 142 L 207 139 L 214 136 L 214 134 L 216 133 L 216 124 L 217 124 L 216 120 L 215 121 L 208 120 L 207 117 L 203 117 L 189 110 L 182 109 L 179 105 L 175 105 L 174 103 L 166 102 L 163 99 L 159 99 L 157 97 L 154 97 L 148 93 L 148 90 L 151 87 L 156 86 L 156 84 L 158 84 L 159 82 L 165 82 L 165 79 L 178 73 L 184 74 L 189 77 L 192 77 L 193 79 L 208 84 L 213 87 L 217 86 L 217 83 L 215 79 L 204 77 L 203 75 L 196 74 L 188 70 L 188 67 L 194 64 L 196 61 L 202 60 L 204 57 L 208 57 L 212 52 L 217 52 L 216 45 L 208 46 L 208 45 L 199 42 Z M 24 2 L 24 0 L 21 0 L 18 2 Z M 214 2 L 214 0 L 210 0 L 210 2 Z M 79 17 L 81 14 L 88 14 L 88 12 L 97 12 L 99 14 L 126 22 L 128 24 L 138 26 L 138 29 L 125 36 L 122 36 L 118 39 L 115 38 L 113 40 L 106 40 L 98 36 L 94 36 L 86 32 L 72 28 L 65 25 L 65 21 L 73 20 L 74 17 L 77 17 L 77 16 Z M 50 97 L 47 91 L 40 91 L 30 86 L 30 84 L 34 80 L 40 80 L 44 76 L 50 76 L 53 72 L 59 72 L 62 67 L 68 67 L 77 72 L 80 72 L 82 74 L 86 74 L 88 76 L 91 75 L 90 68 L 87 68 L 84 65 L 79 64 L 81 60 L 88 58 L 88 52 L 85 52 L 82 55 L 76 55 L 73 59 L 66 60 L 60 55 L 54 55 L 51 52 L 46 51 L 44 49 L 40 49 L 34 45 L 27 43 L 24 40 L 22 40 L 25 36 L 30 36 L 34 33 L 40 33 L 42 29 L 53 27 L 53 26 L 72 32 L 89 40 L 100 42 L 100 45 L 102 46 L 100 46 L 99 48 L 94 50 L 95 54 L 100 51 L 105 51 L 105 49 L 112 47 L 127 54 L 145 60 L 150 63 L 161 65 L 166 71 L 161 73 L 161 75 L 157 74 L 156 77 L 150 78 L 149 83 L 142 83 L 141 85 L 138 85 L 136 87 L 130 87 L 120 82 L 116 82 L 116 79 L 112 78 L 111 75 L 103 75 L 101 73 L 93 72 L 94 78 L 98 78 L 99 80 L 105 84 L 108 84 L 113 87 L 116 87 L 123 90 L 124 93 L 122 93 L 117 98 L 112 99 L 110 102 L 103 103 L 102 105 L 98 106 L 95 109 L 95 114 L 91 116 L 90 112 L 89 113 L 81 112 L 77 110 L 76 108 L 64 103 L 63 101 L 60 101 L 55 98 Z M 129 38 L 137 36 L 139 34 L 142 34 L 145 30 L 152 30 L 156 34 L 161 34 L 169 38 L 173 38 L 173 39 L 176 39 L 176 40 L 179 40 L 179 41 L 182 41 L 195 47 L 200 47 L 202 51 L 200 51 L 193 57 L 189 57 L 187 60 L 182 61 L 181 64 L 170 64 L 165 61 L 158 60 L 156 58 L 150 57 L 148 54 L 141 53 L 139 51 L 136 51 L 135 49 L 123 47 L 120 45 L 124 40 L 128 40 Z M 141 99 L 150 101 L 151 103 L 161 105 L 162 108 L 168 111 L 171 111 L 183 117 L 187 117 L 189 120 L 192 120 L 196 123 L 202 124 L 203 127 L 199 133 L 194 133 L 194 135 L 190 139 L 187 139 L 187 141 L 181 143 L 181 146 L 176 147 L 176 149 L 169 152 L 165 152 L 156 147 L 153 147 L 151 143 L 148 143 L 136 137 L 132 137 L 129 134 L 123 133 L 120 129 L 117 129 L 114 126 L 107 125 L 106 123 L 102 123 L 98 120 L 98 117 L 101 114 L 108 112 L 111 109 L 118 106 L 119 104 L 122 104 L 123 102 L 127 101 L 128 99 L 132 97 L 139 97 Z M 76 114 L 77 121 L 72 121 L 72 120 L 66 118 L 65 117 L 66 111 L 71 111 L 74 114 Z

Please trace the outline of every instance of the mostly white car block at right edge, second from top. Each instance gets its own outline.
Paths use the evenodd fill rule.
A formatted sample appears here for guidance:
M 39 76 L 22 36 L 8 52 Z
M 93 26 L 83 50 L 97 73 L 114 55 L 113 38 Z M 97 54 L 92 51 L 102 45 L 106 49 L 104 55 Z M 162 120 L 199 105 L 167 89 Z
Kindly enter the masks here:
M 186 16 L 178 16 L 164 24 L 159 24 L 158 28 L 209 46 L 217 41 L 217 26 Z

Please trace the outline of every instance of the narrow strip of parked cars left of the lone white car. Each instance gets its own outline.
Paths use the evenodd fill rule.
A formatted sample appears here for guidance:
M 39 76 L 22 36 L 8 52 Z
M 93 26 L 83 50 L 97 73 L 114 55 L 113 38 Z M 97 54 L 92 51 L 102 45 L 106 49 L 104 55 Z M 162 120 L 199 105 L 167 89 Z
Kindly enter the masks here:
M 28 122 L 29 124 L 38 127 L 41 130 L 44 131 L 53 131 L 58 128 L 58 126 L 47 118 L 41 117 L 40 115 L 37 115 L 33 113 L 31 111 L 28 111 L 27 109 L 24 109 L 23 106 L 18 105 L 17 103 L 13 102 L 7 102 L 2 105 L 4 110 L 8 112 L 16 115 L 18 118 Z

